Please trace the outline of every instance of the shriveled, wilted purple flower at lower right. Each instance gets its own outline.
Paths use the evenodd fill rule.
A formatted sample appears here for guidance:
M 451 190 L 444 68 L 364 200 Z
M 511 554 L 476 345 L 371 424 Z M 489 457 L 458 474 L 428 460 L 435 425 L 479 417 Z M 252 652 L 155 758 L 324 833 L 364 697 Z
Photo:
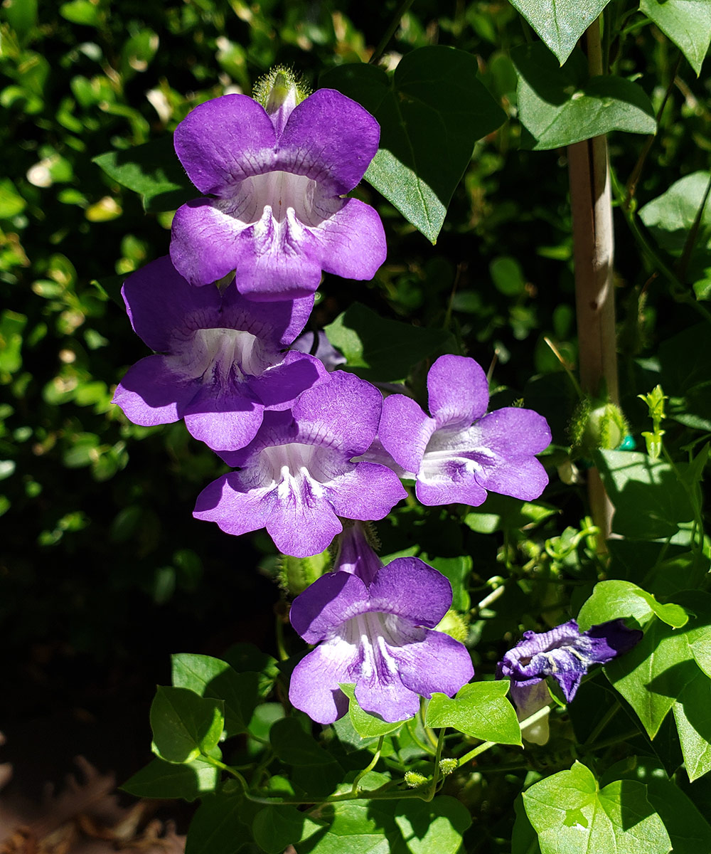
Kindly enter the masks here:
M 546 676 L 557 681 L 569 703 L 592 664 L 607 664 L 641 638 L 642 632 L 627 629 L 623 620 L 600 623 L 585 632 L 580 632 L 575 620 L 568 620 L 550 632 L 524 632 L 498 663 L 496 675 L 510 678 L 511 699 L 519 710 L 533 714 L 531 701 L 538 692 L 532 694 L 532 689 Z

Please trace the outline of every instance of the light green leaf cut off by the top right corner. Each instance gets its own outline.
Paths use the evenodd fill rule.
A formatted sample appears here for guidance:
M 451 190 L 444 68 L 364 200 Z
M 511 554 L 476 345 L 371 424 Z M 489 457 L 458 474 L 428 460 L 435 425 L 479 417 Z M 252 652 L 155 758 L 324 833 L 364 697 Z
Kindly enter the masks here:
M 639 11 L 671 38 L 698 76 L 711 43 L 711 3 L 707 0 L 641 0 Z

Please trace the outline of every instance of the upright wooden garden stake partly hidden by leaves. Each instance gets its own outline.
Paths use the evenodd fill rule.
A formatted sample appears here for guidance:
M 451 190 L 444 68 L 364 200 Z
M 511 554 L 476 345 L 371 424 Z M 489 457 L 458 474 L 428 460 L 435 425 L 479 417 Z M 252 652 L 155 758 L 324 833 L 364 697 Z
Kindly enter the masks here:
M 586 45 L 591 76 L 599 76 L 604 71 L 599 19 L 588 27 Z M 592 137 L 568 145 L 568 172 L 573 211 L 580 385 L 592 396 L 603 395 L 619 403 L 607 138 Z M 603 533 L 597 548 L 605 552 L 614 508 L 597 469 L 591 469 L 588 474 L 588 497 L 592 518 Z

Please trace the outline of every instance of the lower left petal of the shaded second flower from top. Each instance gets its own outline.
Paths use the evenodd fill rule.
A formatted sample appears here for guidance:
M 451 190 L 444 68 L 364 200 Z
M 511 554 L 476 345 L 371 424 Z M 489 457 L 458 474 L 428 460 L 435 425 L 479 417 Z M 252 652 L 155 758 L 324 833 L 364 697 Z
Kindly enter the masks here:
M 143 427 L 172 424 L 200 391 L 199 380 L 185 380 L 170 369 L 165 356 L 146 356 L 125 372 L 112 403 Z

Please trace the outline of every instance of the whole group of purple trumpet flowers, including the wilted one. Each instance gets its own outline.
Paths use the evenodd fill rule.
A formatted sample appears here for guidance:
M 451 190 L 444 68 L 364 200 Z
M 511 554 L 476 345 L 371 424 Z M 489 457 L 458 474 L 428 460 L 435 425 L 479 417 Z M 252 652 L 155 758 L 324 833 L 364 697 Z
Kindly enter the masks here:
M 318 646 L 289 696 L 328 723 L 347 709 L 341 685 L 353 684 L 365 711 L 399 721 L 474 671 L 463 644 L 436 630 L 452 605 L 446 577 L 417 558 L 383 566 L 364 524 L 405 498 L 401 478 L 429 506 L 480 505 L 487 491 L 534 499 L 547 483 L 535 454 L 551 434 L 527 409 L 487 414 L 473 359 L 434 361 L 427 414 L 339 370 L 323 333 L 301 334 L 322 272 L 369 279 L 385 260 L 378 214 L 347 196 L 380 129 L 358 103 L 327 89 L 307 96 L 281 69 L 257 95 L 203 103 L 176 129 L 203 195 L 176 213 L 170 255 L 124 284 L 131 324 L 154 354 L 127 371 L 114 402 L 137 424 L 183 419 L 233 469 L 203 489 L 196 518 L 232 535 L 265 528 L 297 559 L 338 538 L 333 571 L 291 608 L 296 632 Z M 609 647 L 592 630 L 564 649 L 557 635 L 537 651 L 519 646 L 499 675 L 514 679 L 517 705 L 547 673 L 569 698 L 581 663 L 621 648 L 606 637 Z

